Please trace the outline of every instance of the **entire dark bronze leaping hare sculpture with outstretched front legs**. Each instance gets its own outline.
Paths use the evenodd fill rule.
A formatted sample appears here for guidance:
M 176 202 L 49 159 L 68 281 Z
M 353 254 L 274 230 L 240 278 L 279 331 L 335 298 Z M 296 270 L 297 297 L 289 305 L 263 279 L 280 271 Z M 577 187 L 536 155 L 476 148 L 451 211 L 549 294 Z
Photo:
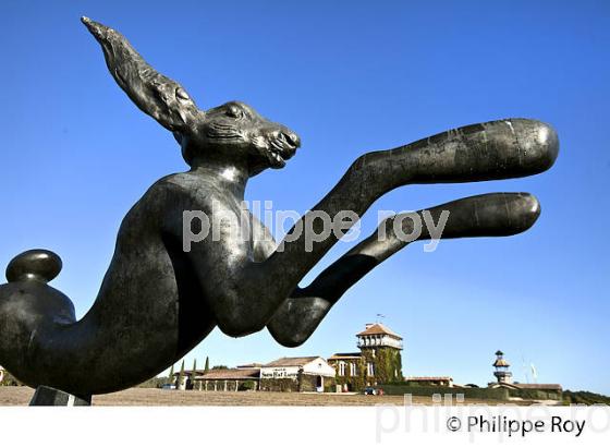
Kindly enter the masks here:
M 47 283 L 61 270 L 59 256 L 33 250 L 11 261 L 9 282 L 0 286 L 0 364 L 20 380 L 86 403 L 91 395 L 158 374 L 216 326 L 232 337 L 267 327 L 281 345 L 298 346 L 350 287 L 407 244 L 392 232 L 396 217 L 390 217 L 379 228 L 388 230 L 386 240 L 376 231 L 305 288 L 298 282 L 338 241 L 335 234 L 308 251 L 304 232 L 284 241 L 280 251 L 251 216 L 252 238 L 237 238 L 225 225 L 219 240 L 205 238 L 185 251 L 183 237 L 192 222 L 184 225 L 184 212 L 199 210 L 210 219 L 219 212 L 240 216 L 247 180 L 267 168 L 282 168 L 300 138 L 243 102 L 198 109 L 182 86 L 156 72 L 121 34 L 86 17 L 83 23 L 101 45 L 117 83 L 173 133 L 191 169 L 157 181 L 127 213 L 98 297 L 81 321 L 70 299 Z M 331 218 L 342 210 L 362 216 L 402 185 L 539 173 L 552 166 L 558 149 L 549 125 L 507 119 L 368 153 L 296 226 L 321 212 Z M 442 210 L 450 212 L 443 238 L 516 234 L 540 213 L 537 200 L 526 193 L 472 196 L 428 210 L 435 221 Z M 313 221 L 319 232 L 320 222 Z M 424 228 L 418 240 L 429 238 Z

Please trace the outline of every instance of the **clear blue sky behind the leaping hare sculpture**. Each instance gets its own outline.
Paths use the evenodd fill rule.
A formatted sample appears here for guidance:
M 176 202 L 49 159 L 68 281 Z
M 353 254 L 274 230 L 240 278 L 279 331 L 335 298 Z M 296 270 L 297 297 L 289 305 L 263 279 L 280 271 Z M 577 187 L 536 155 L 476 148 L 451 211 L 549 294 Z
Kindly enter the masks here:
M 413 244 L 333 307 L 301 348 L 265 331 L 215 330 L 186 357 L 235 365 L 355 349 L 376 314 L 405 339 L 406 375 L 491 380 L 493 352 L 515 379 L 610 394 L 610 3 L 605 1 L 24 1 L 2 5 L 0 266 L 47 247 L 64 268 L 53 286 L 78 316 L 91 305 L 127 209 L 158 178 L 184 170 L 172 136 L 109 75 L 88 15 L 122 32 L 202 108 L 231 99 L 296 131 L 286 168 L 246 198 L 301 213 L 364 152 L 450 128 L 523 117 L 551 123 L 556 166 L 518 180 L 414 185 L 376 210 L 528 191 L 542 214 L 524 234 Z M 316 271 L 350 245 L 339 243 Z

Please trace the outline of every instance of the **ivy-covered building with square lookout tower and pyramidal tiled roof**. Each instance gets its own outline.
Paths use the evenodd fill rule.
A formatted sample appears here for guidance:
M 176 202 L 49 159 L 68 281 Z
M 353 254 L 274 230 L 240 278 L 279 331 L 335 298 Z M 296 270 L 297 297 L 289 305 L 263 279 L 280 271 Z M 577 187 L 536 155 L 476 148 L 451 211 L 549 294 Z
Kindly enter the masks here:
M 357 391 L 402 380 L 402 337 L 381 323 L 369 323 L 356 334 L 359 352 L 335 353 L 328 359 L 343 391 Z

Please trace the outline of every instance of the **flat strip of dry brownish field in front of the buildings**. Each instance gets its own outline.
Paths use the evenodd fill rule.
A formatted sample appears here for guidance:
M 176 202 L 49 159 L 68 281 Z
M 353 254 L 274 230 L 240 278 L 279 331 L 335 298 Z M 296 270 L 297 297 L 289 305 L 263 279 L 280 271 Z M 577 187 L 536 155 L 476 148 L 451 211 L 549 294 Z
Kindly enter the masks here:
M 28 387 L 0 387 L 0 406 L 27 406 L 34 395 Z M 131 388 L 95 396 L 94 406 L 375 406 L 404 404 L 402 396 L 363 396 L 301 392 L 175 391 Z M 415 404 L 432 404 L 428 397 L 414 397 Z M 465 404 L 496 404 L 496 401 L 466 399 Z

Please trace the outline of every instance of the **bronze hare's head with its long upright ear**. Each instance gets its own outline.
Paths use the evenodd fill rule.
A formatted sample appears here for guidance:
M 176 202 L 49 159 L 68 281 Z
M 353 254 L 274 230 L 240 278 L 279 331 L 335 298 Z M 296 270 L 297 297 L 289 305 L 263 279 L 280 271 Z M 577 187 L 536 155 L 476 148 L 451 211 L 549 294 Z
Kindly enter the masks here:
M 246 166 L 255 176 L 284 167 L 300 146 L 294 132 L 243 102 L 198 109 L 180 84 L 148 65 L 120 33 L 87 17 L 82 21 L 100 43 L 119 86 L 141 110 L 173 132 L 188 165 L 219 159 Z

